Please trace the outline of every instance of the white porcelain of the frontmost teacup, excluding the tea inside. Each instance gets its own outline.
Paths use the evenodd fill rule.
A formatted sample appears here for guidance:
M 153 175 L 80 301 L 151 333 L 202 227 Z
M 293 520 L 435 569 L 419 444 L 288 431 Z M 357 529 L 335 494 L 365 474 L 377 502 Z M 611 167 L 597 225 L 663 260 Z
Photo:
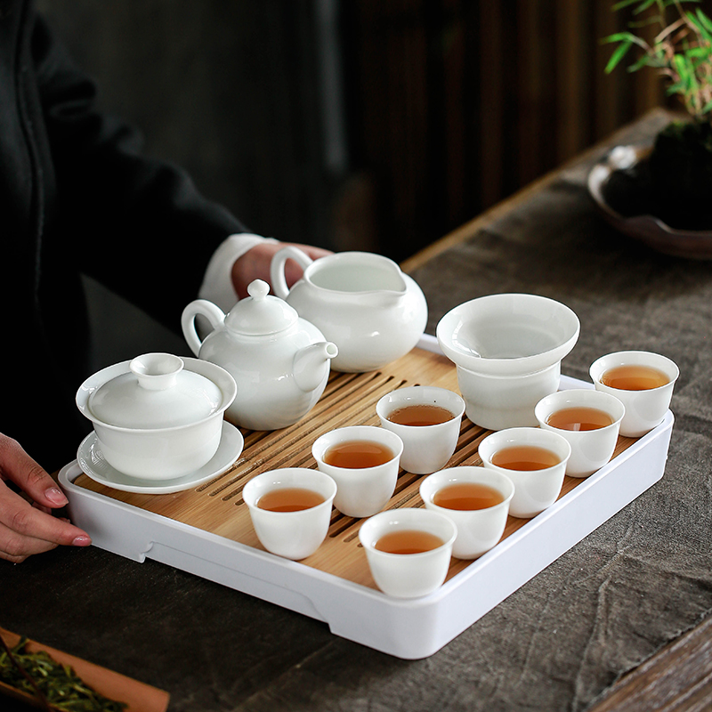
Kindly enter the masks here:
M 396 554 L 376 548 L 379 540 L 396 532 L 425 532 L 437 538 L 435 548 L 413 554 Z M 408 536 L 408 535 L 406 535 Z M 425 509 L 404 507 L 372 516 L 361 524 L 360 542 L 371 575 L 384 594 L 417 598 L 432 594 L 448 575 L 457 528 L 449 517 Z

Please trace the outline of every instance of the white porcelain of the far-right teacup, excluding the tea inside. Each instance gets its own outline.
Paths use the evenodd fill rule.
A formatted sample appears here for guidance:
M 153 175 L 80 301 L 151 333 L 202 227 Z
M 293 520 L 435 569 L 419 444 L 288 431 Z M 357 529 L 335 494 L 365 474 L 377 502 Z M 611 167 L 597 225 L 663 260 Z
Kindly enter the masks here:
M 667 383 L 644 390 L 611 388 L 602 383 L 603 375 L 611 368 L 622 366 L 643 366 L 655 368 L 667 378 Z M 620 434 L 628 438 L 639 438 L 659 425 L 672 400 L 673 388 L 680 369 L 674 361 L 659 353 L 645 351 L 621 351 L 609 353 L 595 360 L 589 369 L 597 391 L 611 393 L 626 407 L 626 415 L 620 424 Z

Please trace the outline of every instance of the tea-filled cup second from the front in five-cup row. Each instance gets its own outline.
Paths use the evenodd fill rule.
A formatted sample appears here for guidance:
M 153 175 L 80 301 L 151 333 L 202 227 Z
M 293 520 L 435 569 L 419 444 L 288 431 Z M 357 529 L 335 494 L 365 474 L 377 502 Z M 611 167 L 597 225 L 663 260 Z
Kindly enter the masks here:
M 476 559 L 502 538 L 514 484 L 495 470 L 462 465 L 428 475 L 420 484 L 420 497 L 426 509 L 455 522 L 452 555 Z

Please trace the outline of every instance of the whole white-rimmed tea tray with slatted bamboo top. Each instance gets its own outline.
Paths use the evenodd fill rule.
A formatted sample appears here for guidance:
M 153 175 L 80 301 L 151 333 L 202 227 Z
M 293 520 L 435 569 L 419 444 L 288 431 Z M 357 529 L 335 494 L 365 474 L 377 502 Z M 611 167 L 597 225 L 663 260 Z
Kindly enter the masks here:
M 458 392 L 457 371 L 437 341 L 387 368 L 333 373 L 320 401 L 299 423 L 271 433 L 242 430 L 245 447 L 225 473 L 172 494 L 113 490 L 91 480 L 77 461 L 59 481 L 69 516 L 94 546 L 137 562 L 150 558 L 328 623 L 332 633 L 403 659 L 422 659 L 449 643 L 531 577 L 577 544 L 662 477 L 672 413 L 640 439 L 619 437 L 611 462 L 590 477 L 564 478 L 556 502 L 533 519 L 510 516 L 497 546 L 469 562 L 452 558 L 445 583 L 417 599 L 384 595 L 360 546 L 361 520 L 332 512 L 328 536 L 301 562 L 266 552 L 256 538 L 242 489 L 258 473 L 316 467 L 312 444 L 344 425 L 379 425 L 376 401 L 408 385 Z M 593 387 L 562 376 L 565 388 Z M 490 431 L 463 418 L 449 466 L 480 465 L 478 445 Z M 426 475 L 401 471 L 385 508 L 423 506 Z

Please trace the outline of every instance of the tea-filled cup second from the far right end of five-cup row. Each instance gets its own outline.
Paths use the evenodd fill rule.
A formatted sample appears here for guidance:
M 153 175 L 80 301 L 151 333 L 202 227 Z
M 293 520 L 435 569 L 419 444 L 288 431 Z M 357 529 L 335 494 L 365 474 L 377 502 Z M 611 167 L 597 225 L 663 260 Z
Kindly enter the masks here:
M 592 388 L 572 388 L 546 396 L 534 410 L 543 430 L 571 446 L 570 477 L 588 477 L 613 456 L 626 409 L 618 398 Z

